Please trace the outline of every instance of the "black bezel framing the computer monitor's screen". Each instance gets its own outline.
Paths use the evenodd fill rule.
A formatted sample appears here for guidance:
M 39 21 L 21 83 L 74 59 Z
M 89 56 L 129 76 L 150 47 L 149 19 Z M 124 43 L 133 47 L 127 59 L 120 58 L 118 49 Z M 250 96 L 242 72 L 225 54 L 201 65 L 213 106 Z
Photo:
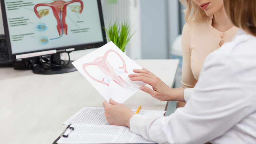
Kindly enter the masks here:
M 31 52 L 23 52 L 23 53 L 12 53 L 12 47 L 11 47 L 11 41 L 10 41 L 10 35 L 9 35 L 9 28 L 8 28 L 8 23 L 7 23 L 7 16 L 6 16 L 6 9 L 5 9 L 5 0 L 1 0 L 1 9 L 2 9 L 2 18 L 3 18 L 3 25 L 4 25 L 4 33 L 5 33 L 5 39 L 6 39 L 6 46 L 8 49 L 9 53 L 9 60 L 17 60 L 16 56 L 17 55 L 22 55 L 22 54 L 33 54 L 37 52 L 45 52 L 48 50 L 56 50 L 56 53 L 54 54 L 60 54 L 60 53 L 70 53 L 76 50 L 84 50 L 84 49 L 90 49 L 90 48 L 98 48 L 107 43 L 106 41 L 106 34 L 105 30 L 103 27 L 104 25 L 104 19 L 103 19 L 103 14 L 102 14 L 102 6 L 101 6 L 101 1 L 97 0 L 98 3 L 98 10 L 99 10 L 99 16 L 100 16 L 100 23 L 101 23 L 101 32 L 102 32 L 102 42 L 95 42 L 95 43 L 86 43 L 86 44 L 78 44 L 78 45 L 72 45 L 72 46 L 63 46 L 63 47 L 57 47 L 57 48 L 49 48 L 49 49 L 43 49 L 43 50 L 35 50 Z M 66 51 L 66 49 L 73 48 L 71 51 Z M 38 56 L 43 56 L 43 55 L 37 55 L 34 57 Z M 26 57 L 26 58 L 33 58 L 33 57 Z M 25 58 L 24 58 L 25 59 Z

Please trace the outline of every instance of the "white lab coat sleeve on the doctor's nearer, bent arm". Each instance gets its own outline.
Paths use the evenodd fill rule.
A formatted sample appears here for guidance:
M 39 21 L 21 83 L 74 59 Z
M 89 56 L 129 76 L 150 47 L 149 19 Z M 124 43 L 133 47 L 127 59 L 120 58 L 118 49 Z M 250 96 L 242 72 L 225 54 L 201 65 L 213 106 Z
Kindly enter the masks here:
M 211 141 L 250 115 L 249 89 L 249 78 L 239 62 L 228 54 L 210 54 L 185 107 L 168 117 L 143 118 L 141 122 L 132 118 L 131 131 L 157 143 Z

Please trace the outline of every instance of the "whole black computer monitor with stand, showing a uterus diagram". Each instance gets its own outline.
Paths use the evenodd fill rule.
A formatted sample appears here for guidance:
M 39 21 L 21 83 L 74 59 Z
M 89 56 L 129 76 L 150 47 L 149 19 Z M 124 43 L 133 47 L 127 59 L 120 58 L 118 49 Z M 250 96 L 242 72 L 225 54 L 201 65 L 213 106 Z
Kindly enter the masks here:
M 1 0 L 1 7 L 9 58 L 37 57 L 34 73 L 74 71 L 60 53 L 106 44 L 100 0 Z

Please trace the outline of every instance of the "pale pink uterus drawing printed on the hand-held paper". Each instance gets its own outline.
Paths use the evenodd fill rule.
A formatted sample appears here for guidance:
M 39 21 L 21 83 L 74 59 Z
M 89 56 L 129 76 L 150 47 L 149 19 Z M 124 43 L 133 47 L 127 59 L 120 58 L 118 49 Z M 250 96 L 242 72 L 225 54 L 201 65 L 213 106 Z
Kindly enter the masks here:
M 120 57 L 120 59 L 122 60 L 123 66 L 119 67 L 118 69 L 114 69 L 111 66 L 111 64 L 106 59 L 107 55 L 110 52 L 114 52 L 115 54 L 117 54 L 118 57 Z M 97 66 L 106 75 L 106 77 L 103 78 L 102 80 L 95 79 L 85 69 L 85 67 L 88 65 Z M 132 88 L 130 88 L 128 86 L 128 84 L 119 75 L 117 75 L 117 74 L 124 74 L 124 73 L 128 73 L 128 72 L 126 70 L 126 64 L 125 64 L 124 59 L 115 50 L 112 50 L 112 49 L 107 50 L 103 57 L 97 57 L 97 58 L 95 58 L 94 62 L 83 64 L 83 70 L 89 77 L 91 77 L 93 80 L 95 80 L 99 83 L 109 86 L 109 84 L 111 83 L 111 79 L 109 77 L 111 77 L 113 79 L 113 81 L 116 82 L 121 87 L 129 88 L 130 90 L 133 90 Z M 107 77 L 107 76 L 109 76 L 109 77 Z

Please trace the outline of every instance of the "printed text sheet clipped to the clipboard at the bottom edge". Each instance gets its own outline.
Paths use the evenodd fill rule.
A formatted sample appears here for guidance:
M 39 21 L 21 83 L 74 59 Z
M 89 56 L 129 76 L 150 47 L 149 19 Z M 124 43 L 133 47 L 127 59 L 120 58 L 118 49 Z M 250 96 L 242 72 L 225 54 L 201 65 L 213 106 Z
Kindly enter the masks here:
M 71 125 L 74 127 L 67 138 L 61 137 L 58 144 L 86 143 L 154 143 L 130 131 L 128 127 L 116 125 Z

